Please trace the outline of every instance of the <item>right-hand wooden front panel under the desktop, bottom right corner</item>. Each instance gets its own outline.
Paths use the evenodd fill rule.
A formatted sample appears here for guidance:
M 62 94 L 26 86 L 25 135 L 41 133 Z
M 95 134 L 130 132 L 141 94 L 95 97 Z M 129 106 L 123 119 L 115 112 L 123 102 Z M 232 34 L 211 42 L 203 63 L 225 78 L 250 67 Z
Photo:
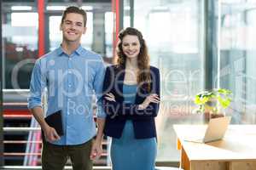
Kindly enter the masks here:
M 228 170 L 256 170 L 256 161 L 231 161 Z

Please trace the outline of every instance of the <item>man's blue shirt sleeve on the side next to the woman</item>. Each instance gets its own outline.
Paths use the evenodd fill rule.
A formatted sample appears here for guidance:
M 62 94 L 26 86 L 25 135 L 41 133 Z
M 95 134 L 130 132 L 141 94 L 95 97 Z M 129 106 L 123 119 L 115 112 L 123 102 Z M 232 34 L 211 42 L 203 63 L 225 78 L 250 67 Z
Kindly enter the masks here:
M 93 82 L 94 90 L 96 93 L 96 105 L 97 105 L 97 111 L 96 111 L 96 116 L 99 118 L 105 118 L 107 115 L 105 111 L 102 108 L 102 85 L 103 85 L 103 80 L 105 76 L 105 65 L 103 63 L 103 60 L 99 60 L 97 62 L 97 67 L 96 67 L 96 77 Z

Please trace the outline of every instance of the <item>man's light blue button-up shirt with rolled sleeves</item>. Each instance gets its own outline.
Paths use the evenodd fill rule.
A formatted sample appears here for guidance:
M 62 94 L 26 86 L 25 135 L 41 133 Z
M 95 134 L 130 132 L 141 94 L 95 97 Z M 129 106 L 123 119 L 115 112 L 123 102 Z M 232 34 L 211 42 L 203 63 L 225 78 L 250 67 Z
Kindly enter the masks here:
M 96 135 L 95 96 L 97 117 L 106 116 L 101 102 L 104 75 L 102 57 L 81 46 L 71 55 L 56 48 L 36 61 L 28 108 L 42 106 L 41 97 L 46 91 L 46 116 L 62 111 L 64 135 L 53 144 L 83 144 Z

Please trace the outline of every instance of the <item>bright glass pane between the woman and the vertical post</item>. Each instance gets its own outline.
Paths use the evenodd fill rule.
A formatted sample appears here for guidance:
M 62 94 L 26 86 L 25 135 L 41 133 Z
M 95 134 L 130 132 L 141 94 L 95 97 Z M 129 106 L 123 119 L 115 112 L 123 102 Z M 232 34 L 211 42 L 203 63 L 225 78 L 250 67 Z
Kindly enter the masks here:
M 160 68 L 157 161 L 178 161 L 172 125 L 198 123 L 194 96 L 203 88 L 203 1 L 134 1 L 134 26 L 148 43 L 151 65 Z

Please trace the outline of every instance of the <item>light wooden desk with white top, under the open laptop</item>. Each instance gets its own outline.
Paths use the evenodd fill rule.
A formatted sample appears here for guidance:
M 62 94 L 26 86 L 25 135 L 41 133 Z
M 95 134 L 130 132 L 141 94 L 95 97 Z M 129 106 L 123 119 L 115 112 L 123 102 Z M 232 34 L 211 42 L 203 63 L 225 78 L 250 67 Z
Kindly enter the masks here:
M 204 134 L 206 125 L 174 125 L 184 170 L 256 170 L 256 125 L 230 125 L 224 139 L 184 141 Z

